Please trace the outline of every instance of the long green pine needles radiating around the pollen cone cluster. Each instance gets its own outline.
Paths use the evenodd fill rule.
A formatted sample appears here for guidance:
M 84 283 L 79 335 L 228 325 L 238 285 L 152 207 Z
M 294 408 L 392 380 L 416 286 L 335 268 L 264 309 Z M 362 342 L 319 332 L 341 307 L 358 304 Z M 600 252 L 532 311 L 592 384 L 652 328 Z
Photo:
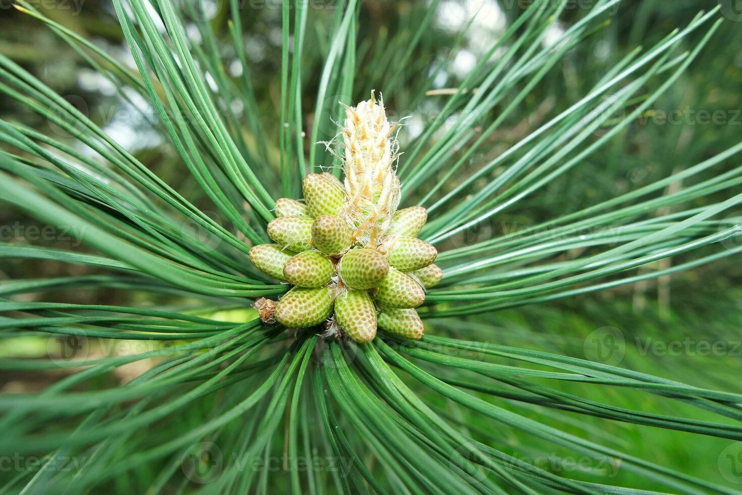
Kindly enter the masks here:
M 0 91 L 69 138 L 0 120 L 7 145 L 0 151 L 0 197 L 42 222 L 74 228 L 94 250 L 4 243 L 0 256 L 96 269 L 6 283 L 0 309 L 14 318 L 0 320 L 2 336 L 51 335 L 50 342 L 72 350 L 96 339 L 102 347 L 115 341 L 150 345 L 69 362 L 62 360 L 64 349 L 53 360 L 4 358 L 6 371 L 42 373 L 67 365 L 74 373 L 42 392 L 0 400 L 0 451 L 49 455 L 45 469 L 4 479 L 3 491 L 179 493 L 203 486 L 214 493 L 732 493 L 723 476 L 700 479 L 632 455 L 632 445 L 622 445 L 621 432 L 607 425 L 740 440 L 740 394 L 717 390 L 710 378 L 712 385 L 694 386 L 619 367 L 610 356 L 601 362 L 600 356 L 571 357 L 564 348 L 533 350 L 527 333 L 517 335 L 519 345 L 505 345 L 493 331 L 502 330 L 493 318 L 505 319 L 516 307 L 528 315 L 536 303 L 695 269 L 742 250 L 734 242 L 741 218 L 733 213 L 742 202 L 736 192 L 742 167 L 732 163 L 742 143 L 572 211 L 539 197 L 562 177 L 580 177 L 578 165 L 600 157 L 692 67 L 720 29 L 718 9 L 699 13 L 656 45 L 629 51 L 579 97 L 547 111 L 539 125 L 493 152 L 497 133 L 513 125 L 528 97 L 542 91 L 569 53 L 606 29 L 617 0 L 595 2 L 566 27 L 559 19 L 568 1 L 531 2 L 460 84 L 444 91 L 432 85 L 448 61 L 427 58 L 438 36 L 430 29 L 438 1 L 412 9 L 401 17 L 397 35 L 378 42 L 358 34 L 358 1 L 329 11 L 328 36 L 311 33 L 309 4 L 285 1 L 278 125 L 261 119 L 271 105 L 256 97 L 240 2 L 230 1 L 229 15 L 214 19 L 171 0 L 152 3 L 113 2 L 137 65 L 132 73 L 18 1 L 19 10 L 46 24 L 124 101 L 144 111 L 176 154 L 180 174 L 188 168 L 187 193 L 0 56 Z M 454 51 L 472 25 L 453 36 Z M 549 39 L 555 32 L 557 39 Z M 308 36 L 320 41 L 309 43 Z M 226 71 L 228 60 L 240 73 Z M 298 198 L 306 174 L 327 168 L 340 175 L 333 121 L 341 119 L 343 105 L 355 105 L 371 89 L 384 91 L 389 108 L 415 108 L 427 96 L 444 95 L 439 113 L 419 134 L 402 128 L 397 169 L 410 201 L 402 206 L 427 209 L 420 236 L 440 252 L 443 278 L 419 310 L 429 330 L 419 341 L 379 332 L 356 344 L 263 324 L 251 302 L 280 297 L 287 287 L 250 262 L 251 246 L 269 242 L 266 229 L 275 212 L 301 209 L 301 203 L 276 203 L 275 197 Z M 154 114 L 137 106 L 139 100 Z M 551 217 L 467 241 L 472 229 L 527 201 Z M 216 209 L 223 221 L 197 204 Z M 641 269 L 670 258 L 676 264 Z M 286 275 L 275 267 L 264 271 Z M 91 287 L 117 289 L 130 299 L 111 305 L 10 298 Z M 615 336 L 602 330 L 588 338 L 596 335 Z M 112 372 L 137 362 L 147 366 L 134 379 L 112 381 Z M 600 421 L 580 424 L 592 419 Z M 289 476 L 265 468 L 277 452 Z M 597 466 L 564 472 L 528 462 L 524 453 L 531 459 L 577 453 L 620 465 L 620 472 L 614 477 Z M 317 457 L 334 469 L 299 465 L 299 459 Z M 70 458 L 79 468 L 59 468 Z M 246 465 L 250 459 L 264 468 Z

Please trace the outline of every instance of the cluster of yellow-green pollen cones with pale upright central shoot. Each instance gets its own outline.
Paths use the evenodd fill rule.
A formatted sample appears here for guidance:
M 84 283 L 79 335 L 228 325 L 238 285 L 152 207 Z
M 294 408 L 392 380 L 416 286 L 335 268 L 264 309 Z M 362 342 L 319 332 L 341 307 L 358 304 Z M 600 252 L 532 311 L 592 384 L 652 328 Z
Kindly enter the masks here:
M 268 323 L 344 333 L 369 342 L 377 328 L 421 338 L 416 307 L 441 280 L 438 252 L 416 237 L 427 220 L 420 206 L 397 210 L 396 141 L 383 102 L 346 109 L 341 131 L 344 180 L 332 174 L 303 179 L 304 202 L 281 198 L 268 224 L 275 244 L 250 250 L 263 272 L 292 284 L 278 302 L 255 306 Z

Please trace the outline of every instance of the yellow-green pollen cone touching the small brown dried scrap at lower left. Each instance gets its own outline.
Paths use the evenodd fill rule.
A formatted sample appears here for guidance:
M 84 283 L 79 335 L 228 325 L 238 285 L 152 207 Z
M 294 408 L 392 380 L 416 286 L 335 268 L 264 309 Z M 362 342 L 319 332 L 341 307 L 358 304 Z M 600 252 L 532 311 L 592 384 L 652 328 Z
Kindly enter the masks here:
M 325 287 L 294 287 L 278 301 L 275 319 L 284 327 L 306 328 L 321 324 L 332 312 L 332 294 Z

